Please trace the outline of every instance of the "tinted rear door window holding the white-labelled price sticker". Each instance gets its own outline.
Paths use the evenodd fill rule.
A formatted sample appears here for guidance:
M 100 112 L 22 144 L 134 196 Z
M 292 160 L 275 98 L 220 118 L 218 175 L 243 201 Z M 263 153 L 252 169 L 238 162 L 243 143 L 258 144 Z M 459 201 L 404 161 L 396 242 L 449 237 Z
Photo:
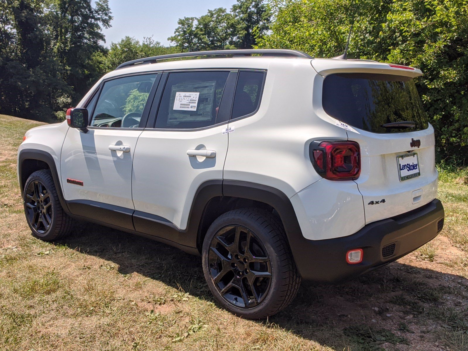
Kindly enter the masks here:
M 216 123 L 229 72 L 169 73 L 156 128 L 191 129 Z

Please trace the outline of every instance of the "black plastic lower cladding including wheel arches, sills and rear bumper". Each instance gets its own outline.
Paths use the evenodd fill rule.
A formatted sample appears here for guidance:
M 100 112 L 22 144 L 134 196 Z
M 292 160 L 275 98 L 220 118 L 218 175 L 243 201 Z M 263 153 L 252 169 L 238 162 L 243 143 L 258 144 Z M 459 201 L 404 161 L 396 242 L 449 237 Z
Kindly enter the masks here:
M 366 225 L 349 236 L 308 240 L 302 235 L 291 201 L 283 192 L 261 184 L 217 180 L 199 187 L 192 202 L 188 227 L 182 230 L 167 219 L 133 209 L 91 201 L 65 201 L 53 157 L 43 151 L 24 149 L 19 155 L 19 174 L 23 174 L 26 160 L 44 161 L 49 166 L 57 184 L 60 203 L 73 217 L 152 238 L 191 254 L 200 253 L 200 238 L 205 234 L 200 228 L 203 219 L 209 215 L 205 209 L 211 200 L 231 197 L 271 206 L 283 223 L 300 275 L 314 281 L 340 282 L 394 261 L 433 239 L 444 218 L 442 204 L 435 199 L 416 210 Z M 22 176 L 22 187 L 27 176 L 27 173 Z M 382 257 L 382 248 L 393 243 L 394 254 Z M 356 248 L 363 249 L 364 259 L 359 264 L 350 265 L 345 261 L 346 252 Z

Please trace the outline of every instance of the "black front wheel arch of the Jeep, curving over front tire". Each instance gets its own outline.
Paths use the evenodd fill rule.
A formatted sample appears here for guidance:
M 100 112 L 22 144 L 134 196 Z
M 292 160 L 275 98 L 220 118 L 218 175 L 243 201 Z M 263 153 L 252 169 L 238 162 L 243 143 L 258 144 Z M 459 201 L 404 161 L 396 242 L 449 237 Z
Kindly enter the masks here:
M 63 209 L 68 213 L 68 206 L 66 205 L 66 201 L 62 193 L 59 173 L 57 171 L 54 158 L 46 151 L 33 149 L 23 149 L 20 151 L 18 155 L 18 174 L 21 195 L 23 195 L 24 185 L 26 184 L 26 180 L 29 176 L 41 169 L 48 169 L 51 171 L 52 179 L 57 188 L 60 205 L 62 205 Z

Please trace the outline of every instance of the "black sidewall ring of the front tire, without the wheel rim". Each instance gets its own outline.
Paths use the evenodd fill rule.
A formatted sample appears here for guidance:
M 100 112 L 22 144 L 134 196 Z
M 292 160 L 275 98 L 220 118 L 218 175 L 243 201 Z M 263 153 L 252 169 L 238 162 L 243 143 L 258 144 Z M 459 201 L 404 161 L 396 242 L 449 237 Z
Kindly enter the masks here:
M 56 236 L 55 231 L 56 231 L 56 224 L 57 224 L 57 198 L 56 198 L 56 191 L 55 191 L 55 184 L 50 182 L 50 179 L 47 179 L 45 173 L 47 171 L 36 171 L 33 174 L 31 174 L 26 181 L 26 184 L 24 185 L 24 191 L 23 191 L 23 205 L 24 205 L 24 213 L 26 215 L 26 221 L 28 222 L 28 226 L 31 229 L 31 232 L 34 236 L 36 236 L 39 239 L 43 240 L 48 240 L 48 239 L 54 239 L 51 238 L 51 236 Z M 50 174 L 50 173 L 49 173 Z M 47 192 L 50 194 L 49 196 L 51 197 L 51 206 L 52 206 L 52 220 L 51 220 L 51 226 L 49 227 L 49 230 L 47 230 L 45 233 L 39 233 L 37 232 L 36 229 L 31 225 L 29 222 L 29 217 L 27 215 L 27 207 L 26 207 L 26 190 L 29 187 L 29 184 L 35 180 L 38 180 L 41 182 L 44 186 Z

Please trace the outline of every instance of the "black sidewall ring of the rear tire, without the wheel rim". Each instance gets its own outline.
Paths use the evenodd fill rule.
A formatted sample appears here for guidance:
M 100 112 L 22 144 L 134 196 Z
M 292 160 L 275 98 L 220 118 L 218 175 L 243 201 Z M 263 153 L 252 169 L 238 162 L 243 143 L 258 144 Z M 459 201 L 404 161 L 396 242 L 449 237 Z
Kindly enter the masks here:
M 251 213 L 251 212 L 248 212 Z M 223 227 L 228 227 L 232 225 L 239 225 L 248 228 L 252 231 L 257 238 L 262 242 L 267 254 L 270 258 L 271 264 L 271 283 L 270 288 L 263 299 L 263 301 L 255 307 L 252 308 L 241 308 L 236 307 L 226 301 L 223 296 L 219 293 L 218 289 L 214 285 L 211 277 L 211 273 L 208 267 L 208 252 L 210 249 L 210 244 L 215 236 L 215 234 Z M 280 281 L 284 278 L 281 274 L 281 265 L 282 262 L 278 259 L 276 249 L 271 243 L 271 237 L 268 233 L 265 232 L 264 227 L 259 225 L 257 222 L 248 218 L 248 215 L 228 215 L 220 216 L 216 219 L 210 228 L 208 229 L 202 247 L 202 265 L 203 273 L 205 275 L 206 282 L 210 291 L 212 292 L 215 299 L 219 304 L 238 316 L 249 318 L 249 319 L 261 319 L 271 314 L 272 305 L 276 304 L 277 300 L 280 298 L 280 291 L 278 286 L 281 285 Z

